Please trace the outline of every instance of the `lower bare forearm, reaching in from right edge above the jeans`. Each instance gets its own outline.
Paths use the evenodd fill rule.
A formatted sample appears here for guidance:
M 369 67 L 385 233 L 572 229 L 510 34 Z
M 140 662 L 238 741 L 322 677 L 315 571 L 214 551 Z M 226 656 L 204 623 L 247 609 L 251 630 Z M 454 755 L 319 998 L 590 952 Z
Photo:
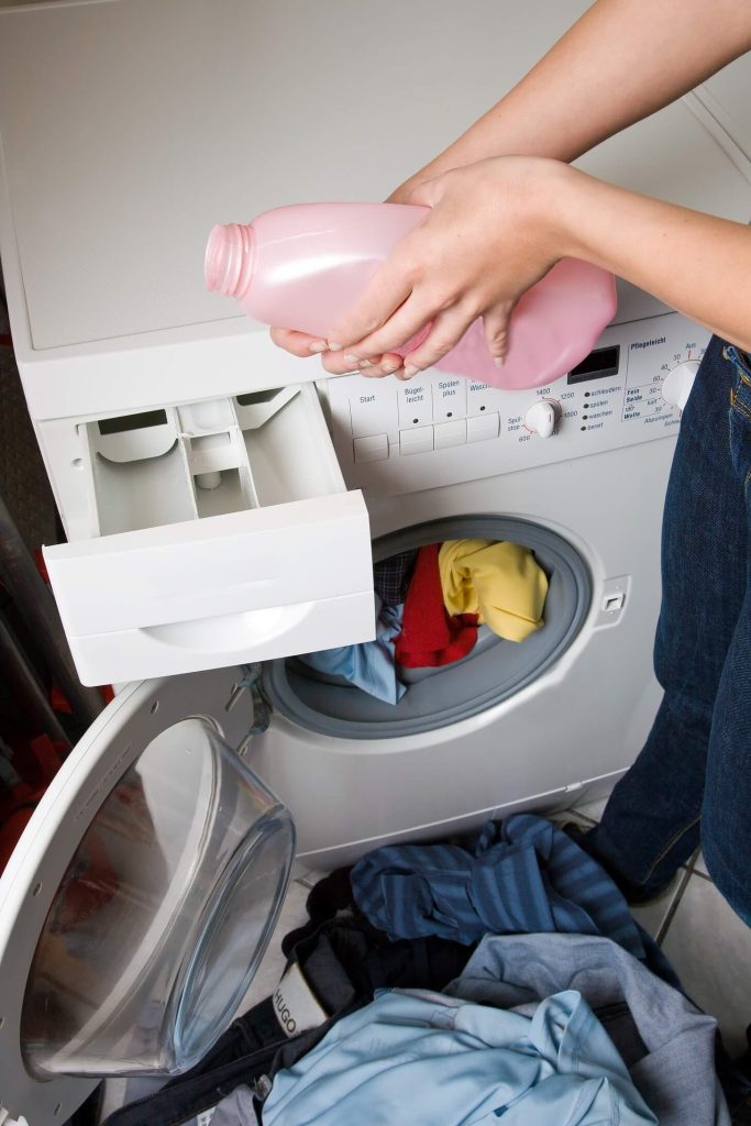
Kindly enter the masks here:
M 751 351 L 751 227 L 554 170 L 548 215 L 561 256 L 581 258 Z

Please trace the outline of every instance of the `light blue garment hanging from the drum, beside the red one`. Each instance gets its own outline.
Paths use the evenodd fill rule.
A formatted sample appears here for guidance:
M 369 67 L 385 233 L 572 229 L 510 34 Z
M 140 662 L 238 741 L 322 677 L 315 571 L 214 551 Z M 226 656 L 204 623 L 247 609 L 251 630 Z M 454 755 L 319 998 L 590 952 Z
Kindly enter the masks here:
M 396 677 L 393 638 L 402 632 L 404 607 L 384 606 L 375 595 L 376 636 L 360 645 L 322 649 L 318 653 L 303 653 L 299 660 L 319 672 L 343 677 L 369 696 L 396 704 L 406 691 Z

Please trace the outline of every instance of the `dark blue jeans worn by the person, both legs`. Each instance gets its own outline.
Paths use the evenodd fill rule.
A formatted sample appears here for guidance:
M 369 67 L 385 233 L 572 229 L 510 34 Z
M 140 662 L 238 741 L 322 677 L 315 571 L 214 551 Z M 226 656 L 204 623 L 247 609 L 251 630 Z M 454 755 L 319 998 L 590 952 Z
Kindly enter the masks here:
M 751 363 L 714 338 L 665 499 L 654 647 L 663 700 L 601 823 L 582 839 L 632 899 L 663 888 L 701 843 L 713 881 L 749 926 L 750 482 Z

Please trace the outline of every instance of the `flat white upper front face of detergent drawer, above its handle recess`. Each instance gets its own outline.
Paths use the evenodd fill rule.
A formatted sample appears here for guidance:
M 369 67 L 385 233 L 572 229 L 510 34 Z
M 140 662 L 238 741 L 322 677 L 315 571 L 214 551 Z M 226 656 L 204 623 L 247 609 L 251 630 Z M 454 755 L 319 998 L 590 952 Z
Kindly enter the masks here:
M 57 544 L 44 555 L 71 636 L 373 590 L 359 493 Z

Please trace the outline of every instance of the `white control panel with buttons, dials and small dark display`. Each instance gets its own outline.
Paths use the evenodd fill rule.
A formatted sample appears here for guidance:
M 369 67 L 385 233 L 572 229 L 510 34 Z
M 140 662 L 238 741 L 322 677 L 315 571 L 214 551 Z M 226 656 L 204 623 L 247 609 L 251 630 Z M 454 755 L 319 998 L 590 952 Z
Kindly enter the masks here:
M 547 387 L 501 391 L 424 372 L 322 385 L 350 488 L 412 492 L 677 434 L 706 329 L 679 313 L 610 325 Z

